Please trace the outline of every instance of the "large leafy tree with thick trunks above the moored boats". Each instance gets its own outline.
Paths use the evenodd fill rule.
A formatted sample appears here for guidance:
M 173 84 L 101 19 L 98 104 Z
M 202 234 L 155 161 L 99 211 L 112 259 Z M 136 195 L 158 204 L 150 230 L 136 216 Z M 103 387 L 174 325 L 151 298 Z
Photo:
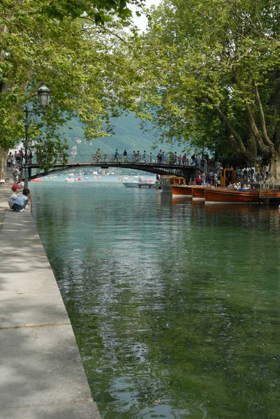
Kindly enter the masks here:
M 215 137 L 245 164 L 280 178 L 280 9 L 276 0 L 164 0 L 142 49 L 160 77 L 142 106 L 172 138 Z M 157 96 L 157 100 L 150 97 Z

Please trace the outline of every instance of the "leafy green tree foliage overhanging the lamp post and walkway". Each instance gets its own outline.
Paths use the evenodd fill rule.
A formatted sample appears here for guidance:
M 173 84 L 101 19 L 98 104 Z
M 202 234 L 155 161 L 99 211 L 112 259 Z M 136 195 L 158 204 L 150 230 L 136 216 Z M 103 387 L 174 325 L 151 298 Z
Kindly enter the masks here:
M 141 1 L 2 1 L 1 177 L 7 150 L 24 138 L 24 106 L 37 108 L 36 89 L 43 82 L 51 90 L 51 104 L 29 127 L 41 153 L 52 150 L 56 159 L 66 159 L 63 141 L 57 138 L 50 147 L 50 140 L 73 116 L 84 123 L 86 138 L 108 135 L 110 117 L 135 100 L 127 89 L 133 71 L 127 65 L 123 39 L 128 36 L 122 28 L 130 14 L 126 4 Z M 75 5 L 80 5 L 76 13 Z M 47 161 L 45 168 L 52 159 Z

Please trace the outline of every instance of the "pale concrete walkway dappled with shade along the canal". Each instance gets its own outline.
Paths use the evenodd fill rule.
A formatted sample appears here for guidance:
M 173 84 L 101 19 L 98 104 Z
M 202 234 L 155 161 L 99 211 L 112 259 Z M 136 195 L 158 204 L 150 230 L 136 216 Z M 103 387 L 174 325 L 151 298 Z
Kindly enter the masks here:
M 0 418 L 100 419 L 29 210 L 0 186 Z

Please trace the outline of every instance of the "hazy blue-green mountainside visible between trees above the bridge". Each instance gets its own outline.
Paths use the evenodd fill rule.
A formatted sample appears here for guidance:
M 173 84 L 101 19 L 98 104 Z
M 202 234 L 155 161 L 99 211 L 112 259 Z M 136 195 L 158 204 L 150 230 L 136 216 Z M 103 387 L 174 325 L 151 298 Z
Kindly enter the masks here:
M 101 149 L 101 154 L 113 154 L 117 148 L 122 154 L 124 149 L 127 150 L 128 154 L 131 154 L 133 150 L 136 152 L 139 150 L 140 153 L 146 150 L 147 154 L 152 152 L 156 153 L 157 149 L 163 148 L 163 145 L 159 143 L 156 150 L 152 149 L 154 142 L 159 138 L 156 130 L 142 131 L 140 129 L 140 119 L 136 118 L 132 113 L 128 116 L 121 116 L 119 118 L 112 118 L 112 125 L 114 126 L 114 134 L 110 137 L 94 138 L 91 141 L 84 139 L 84 133 L 82 131 L 82 124 L 78 119 L 73 119 L 71 129 L 64 126 L 64 136 L 67 138 L 69 145 L 70 154 L 77 153 L 77 157 L 92 156 L 95 154 L 96 149 Z M 147 128 L 152 128 L 152 125 L 147 122 Z M 165 149 L 169 149 L 168 145 L 165 145 Z

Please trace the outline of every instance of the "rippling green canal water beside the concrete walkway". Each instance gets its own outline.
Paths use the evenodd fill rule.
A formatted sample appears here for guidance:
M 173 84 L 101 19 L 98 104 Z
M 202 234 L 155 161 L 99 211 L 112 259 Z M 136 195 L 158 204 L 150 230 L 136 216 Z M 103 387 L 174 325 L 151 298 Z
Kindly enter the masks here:
M 116 179 L 31 193 L 103 418 L 280 418 L 277 208 Z

